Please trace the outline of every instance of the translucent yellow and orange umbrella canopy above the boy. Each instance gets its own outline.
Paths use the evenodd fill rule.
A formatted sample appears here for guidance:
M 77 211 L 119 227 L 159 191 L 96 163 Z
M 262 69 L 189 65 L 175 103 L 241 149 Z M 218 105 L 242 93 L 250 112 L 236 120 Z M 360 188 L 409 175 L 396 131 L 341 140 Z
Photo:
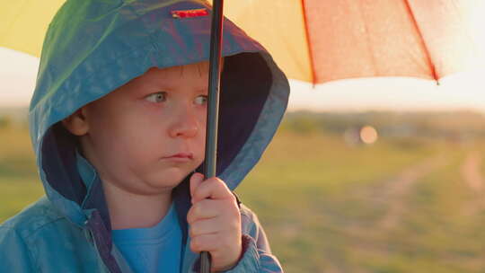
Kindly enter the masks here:
M 0 47 L 39 57 L 48 22 L 64 2 L 3 1 Z M 225 15 L 260 40 L 288 77 L 313 84 L 439 79 L 483 67 L 483 14 L 484 0 L 225 1 Z

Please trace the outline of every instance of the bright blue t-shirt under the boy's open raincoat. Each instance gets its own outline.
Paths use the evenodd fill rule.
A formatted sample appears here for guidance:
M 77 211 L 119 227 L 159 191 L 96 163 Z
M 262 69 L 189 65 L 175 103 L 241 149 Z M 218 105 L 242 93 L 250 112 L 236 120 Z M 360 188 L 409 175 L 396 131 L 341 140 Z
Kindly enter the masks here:
M 77 169 L 87 188 L 97 172 L 79 153 Z M 135 272 L 180 272 L 181 226 L 173 203 L 157 225 L 112 231 L 114 244 Z

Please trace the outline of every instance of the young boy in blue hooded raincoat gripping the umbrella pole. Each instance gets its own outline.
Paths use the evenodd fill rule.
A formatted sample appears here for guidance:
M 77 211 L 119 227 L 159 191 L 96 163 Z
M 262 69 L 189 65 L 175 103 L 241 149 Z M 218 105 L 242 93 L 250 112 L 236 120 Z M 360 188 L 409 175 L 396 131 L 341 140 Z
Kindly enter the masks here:
M 278 128 L 287 78 L 225 21 L 217 172 L 205 179 L 206 11 L 196 0 L 59 10 L 30 108 L 47 197 L 0 226 L 0 272 L 198 272 L 200 251 L 213 272 L 282 272 L 232 190 Z

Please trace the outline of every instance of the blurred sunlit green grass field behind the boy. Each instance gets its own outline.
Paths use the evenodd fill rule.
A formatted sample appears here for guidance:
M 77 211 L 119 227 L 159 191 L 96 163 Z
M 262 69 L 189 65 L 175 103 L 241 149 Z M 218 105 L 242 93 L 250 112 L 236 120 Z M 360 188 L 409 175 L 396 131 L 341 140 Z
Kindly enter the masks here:
M 283 130 L 236 191 L 286 272 L 485 273 L 483 151 Z M 0 223 L 42 194 L 27 131 L 0 130 Z

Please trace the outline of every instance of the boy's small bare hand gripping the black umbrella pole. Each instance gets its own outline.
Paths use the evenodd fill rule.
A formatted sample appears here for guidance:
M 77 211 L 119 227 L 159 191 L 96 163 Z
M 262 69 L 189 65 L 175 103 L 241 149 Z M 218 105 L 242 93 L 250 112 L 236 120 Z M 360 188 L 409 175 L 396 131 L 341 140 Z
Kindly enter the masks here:
M 209 251 L 211 271 L 231 269 L 242 251 L 241 215 L 231 190 L 218 178 L 203 181 L 204 175 L 190 177 L 192 207 L 187 215 L 190 225 L 190 250 Z

